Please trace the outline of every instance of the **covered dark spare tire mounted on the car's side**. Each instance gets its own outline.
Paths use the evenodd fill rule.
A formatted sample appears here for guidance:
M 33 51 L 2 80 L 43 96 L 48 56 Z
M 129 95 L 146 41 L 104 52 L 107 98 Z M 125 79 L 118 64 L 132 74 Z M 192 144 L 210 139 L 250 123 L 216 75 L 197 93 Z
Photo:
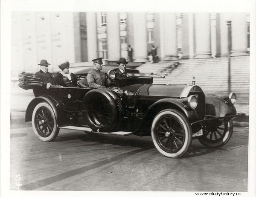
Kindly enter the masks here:
M 108 89 L 90 90 L 83 99 L 83 116 L 87 125 L 97 132 L 113 132 L 122 124 L 120 99 Z

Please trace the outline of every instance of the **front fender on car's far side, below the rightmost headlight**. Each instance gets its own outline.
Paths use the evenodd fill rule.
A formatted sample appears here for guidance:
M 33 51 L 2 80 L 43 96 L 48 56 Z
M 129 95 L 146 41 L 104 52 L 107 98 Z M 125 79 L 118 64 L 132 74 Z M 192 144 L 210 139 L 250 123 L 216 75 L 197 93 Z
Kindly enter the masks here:
M 236 115 L 236 108 L 217 96 L 206 96 L 205 108 L 205 115 L 216 117 Z

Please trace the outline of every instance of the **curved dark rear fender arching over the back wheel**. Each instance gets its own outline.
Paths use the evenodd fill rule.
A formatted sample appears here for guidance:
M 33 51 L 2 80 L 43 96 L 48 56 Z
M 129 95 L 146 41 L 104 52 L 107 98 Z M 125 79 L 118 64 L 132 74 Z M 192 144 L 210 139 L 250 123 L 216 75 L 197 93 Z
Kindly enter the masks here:
M 62 108 L 61 101 L 57 101 L 51 96 L 42 95 L 35 97 L 32 101 L 30 101 L 25 114 L 25 122 L 32 121 L 32 113 L 34 111 L 35 106 L 40 102 L 47 102 L 51 107 L 56 117 L 57 126 L 60 127 L 67 122 L 67 117 L 64 115 L 64 109 Z

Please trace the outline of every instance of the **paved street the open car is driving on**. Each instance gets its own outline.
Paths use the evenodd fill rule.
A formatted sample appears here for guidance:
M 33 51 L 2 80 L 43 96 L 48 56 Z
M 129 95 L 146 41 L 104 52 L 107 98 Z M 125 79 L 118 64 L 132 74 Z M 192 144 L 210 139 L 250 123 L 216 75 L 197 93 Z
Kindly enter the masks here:
M 41 142 L 24 112 L 12 111 L 10 189 L 73 191 L 247 191 L 248 128 L 235 127 L 222 148 L 194 140 L 169 159 L 151 137 L 88 135 L 61 129 Z

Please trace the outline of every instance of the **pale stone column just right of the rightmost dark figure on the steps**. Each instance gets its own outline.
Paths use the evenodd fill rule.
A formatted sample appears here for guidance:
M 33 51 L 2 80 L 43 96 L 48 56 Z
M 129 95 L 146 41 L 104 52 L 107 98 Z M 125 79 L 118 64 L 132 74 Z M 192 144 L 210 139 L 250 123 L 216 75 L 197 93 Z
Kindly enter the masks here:
M 164 58 L 163 61 L 178 60 L 177 55 L 177 28 L 176 14 L 166 12 L 163 14 Z

